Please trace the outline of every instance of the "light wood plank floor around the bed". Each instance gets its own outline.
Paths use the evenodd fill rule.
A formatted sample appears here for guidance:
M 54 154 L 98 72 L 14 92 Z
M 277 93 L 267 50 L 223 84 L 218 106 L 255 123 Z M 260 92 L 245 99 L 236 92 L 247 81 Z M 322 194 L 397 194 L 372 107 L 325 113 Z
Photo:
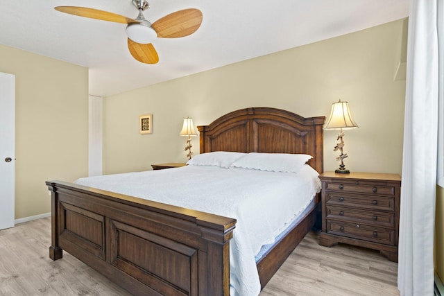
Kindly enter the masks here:
M 0 231 L 0 295 L 130 295 L 64 252 L 52 261 L 51 218 Z M 348 245 L 321 247 L 311 232 L 268 282 L 268 295 L 399 295 L 398 264 Z

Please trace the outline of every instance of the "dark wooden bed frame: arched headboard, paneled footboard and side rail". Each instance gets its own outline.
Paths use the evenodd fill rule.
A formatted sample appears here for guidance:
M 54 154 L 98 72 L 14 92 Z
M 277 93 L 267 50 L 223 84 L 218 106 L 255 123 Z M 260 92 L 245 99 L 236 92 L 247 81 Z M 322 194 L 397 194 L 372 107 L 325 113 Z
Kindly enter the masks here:
M 198 127 L 200 153 L 307 154 L 321 173 L 324 120 L 268 107 L 237 110 Z M 65 250 L 134 295 L 230 295 L 236 219 L 79 184 L 46 184 L 51 259 Z M 257 261 L 262 288 L 315 220 L 313 208 Z

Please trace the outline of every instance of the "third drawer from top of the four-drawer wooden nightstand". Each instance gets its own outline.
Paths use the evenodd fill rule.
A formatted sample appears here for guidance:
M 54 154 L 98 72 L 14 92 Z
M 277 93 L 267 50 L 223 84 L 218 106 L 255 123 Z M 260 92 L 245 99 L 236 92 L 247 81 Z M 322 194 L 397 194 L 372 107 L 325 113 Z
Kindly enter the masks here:
M 395 214 L 383 211 L 360 211 L 340 207 L 327 207 L 327 219 L 349 223 L 365 223 L 375 227 L 395 227 Z

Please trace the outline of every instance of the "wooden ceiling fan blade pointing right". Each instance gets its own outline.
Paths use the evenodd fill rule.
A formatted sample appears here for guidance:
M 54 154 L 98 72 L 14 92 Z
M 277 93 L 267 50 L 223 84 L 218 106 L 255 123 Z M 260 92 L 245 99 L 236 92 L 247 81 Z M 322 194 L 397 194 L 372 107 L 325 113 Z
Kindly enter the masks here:
M 185 37 L 196 32 L 202 24 L 202 12 L 196 8 L 179 10 L 162 17 L 151 25 L 157 37 Z

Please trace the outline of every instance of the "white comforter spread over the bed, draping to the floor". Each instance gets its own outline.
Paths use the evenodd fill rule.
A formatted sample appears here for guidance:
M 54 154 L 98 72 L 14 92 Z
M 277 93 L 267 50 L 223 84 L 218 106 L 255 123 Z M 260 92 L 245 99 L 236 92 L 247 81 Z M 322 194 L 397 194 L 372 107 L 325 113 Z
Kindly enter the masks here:
M 273 243 L 321 189 L 318 173 L 308 165 L 298 173 L 185 166 L 86 177 L 76 183 L 236 218 L 230 241 L 232 296 L 259 294 L 255 254 L 262 245 Z

